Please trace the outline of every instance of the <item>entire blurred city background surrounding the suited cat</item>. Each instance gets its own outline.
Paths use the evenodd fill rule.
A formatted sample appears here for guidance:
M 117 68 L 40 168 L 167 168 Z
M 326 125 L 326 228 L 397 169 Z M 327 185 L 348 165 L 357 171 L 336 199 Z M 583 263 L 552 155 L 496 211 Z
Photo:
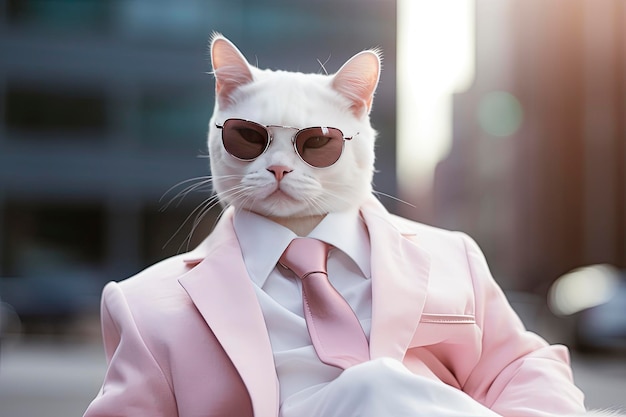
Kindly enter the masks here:
M 626 408 L 622 0 L 0 0 L 1 416 L 81 415 L 103 285 L 213 227 L 208 191 L 164 209 L 209 173 L 213 31 L 262 68 L 382 48 L 381 201 L 474 237 L 588 405 Z

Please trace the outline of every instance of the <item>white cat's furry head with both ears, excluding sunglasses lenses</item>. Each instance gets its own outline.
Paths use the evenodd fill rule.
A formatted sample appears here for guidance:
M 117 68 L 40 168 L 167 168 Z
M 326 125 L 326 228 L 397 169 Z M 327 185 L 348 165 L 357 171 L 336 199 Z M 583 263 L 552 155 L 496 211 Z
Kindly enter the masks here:
M 261 70 L 216 34 L 211 60 L 216 100 L 208 142 L 213 187 L 222 204 L 297 218 L 359 206 L 370 195 L 376 132 L 369 112 L 380 74 L 377 51 L 355 55 L 333 75 Z M 229 154 L 222 143 L 228 119 L 269 126 L 265 152 L 247 161 Z M 308 127 L 336 128 L 349 138 L 336 163 L 316 168 L 298 156 L 292 138 Z

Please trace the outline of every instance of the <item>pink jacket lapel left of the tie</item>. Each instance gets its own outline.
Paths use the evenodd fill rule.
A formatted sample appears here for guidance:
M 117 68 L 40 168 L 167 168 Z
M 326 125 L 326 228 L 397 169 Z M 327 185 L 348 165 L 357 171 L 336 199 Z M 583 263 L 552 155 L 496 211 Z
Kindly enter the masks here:
M 232 210 L 228 211 L 198 251 L 190 254 L 186 262 L 197 266 L 179 282 L 235 365 L 255 415 L 277 415 L 278 381 L 272 348 L 232 217 Z M 202 255 L 204 259 L 199 261 Z

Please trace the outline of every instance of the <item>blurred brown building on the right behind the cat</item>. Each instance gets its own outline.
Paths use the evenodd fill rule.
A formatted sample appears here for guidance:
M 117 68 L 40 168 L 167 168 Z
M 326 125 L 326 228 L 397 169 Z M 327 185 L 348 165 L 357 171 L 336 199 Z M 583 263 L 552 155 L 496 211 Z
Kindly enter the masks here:
M 476 19 L 433 221 L 474 236 L 507 288 L 625 268 L 626 4 L 477 0 Z

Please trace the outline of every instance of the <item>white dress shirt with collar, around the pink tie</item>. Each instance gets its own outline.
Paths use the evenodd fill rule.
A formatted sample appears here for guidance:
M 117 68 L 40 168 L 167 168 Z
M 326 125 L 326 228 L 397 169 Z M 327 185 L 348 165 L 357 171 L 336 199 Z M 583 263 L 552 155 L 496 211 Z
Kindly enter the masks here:
M 342 370 L 317 357 L 303 317 L 302 284 L 292 272 L 277 266 L 287 245 L 297 236 L 245 210 L 235 214 L 234 227 L 269 332 L 281 404 L 295 394 L 310 397 Z M 308 236 L 334 247 L 328 258 L 329 279 L 352 306 L 369 337 L 370 243 L 358 210 L 328 214 Z

